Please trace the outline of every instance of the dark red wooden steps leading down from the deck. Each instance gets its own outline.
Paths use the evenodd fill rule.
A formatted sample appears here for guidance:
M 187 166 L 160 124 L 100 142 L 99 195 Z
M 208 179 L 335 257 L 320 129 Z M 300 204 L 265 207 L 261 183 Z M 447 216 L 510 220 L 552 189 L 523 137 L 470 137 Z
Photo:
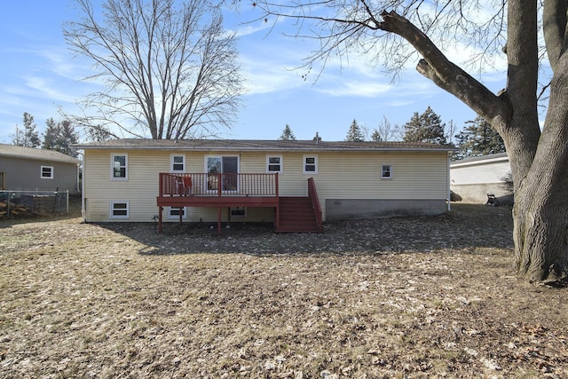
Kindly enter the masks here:
M 312 198 L 280 197 L 278 233 L 321 233 Z

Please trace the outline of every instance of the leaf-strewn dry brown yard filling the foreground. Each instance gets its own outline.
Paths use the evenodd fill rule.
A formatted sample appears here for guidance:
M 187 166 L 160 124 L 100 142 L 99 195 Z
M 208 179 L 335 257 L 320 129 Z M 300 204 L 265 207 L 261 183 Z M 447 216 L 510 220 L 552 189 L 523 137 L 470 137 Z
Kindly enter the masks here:
M 0 377 L 568 376 L 566 289 L 515 278 L 507 208 L 0 228 Z

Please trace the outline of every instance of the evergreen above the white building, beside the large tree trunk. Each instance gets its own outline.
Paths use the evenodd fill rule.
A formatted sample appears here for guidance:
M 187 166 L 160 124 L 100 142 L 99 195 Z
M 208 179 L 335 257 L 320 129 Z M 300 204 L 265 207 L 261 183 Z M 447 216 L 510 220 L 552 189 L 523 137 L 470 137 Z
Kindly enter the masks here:
M 466 126 L 455 135 L 455 138 L 460 148 L 455 155 L 456 159 L 505 152 L 503 138 L 480 116 L 466 122 Z

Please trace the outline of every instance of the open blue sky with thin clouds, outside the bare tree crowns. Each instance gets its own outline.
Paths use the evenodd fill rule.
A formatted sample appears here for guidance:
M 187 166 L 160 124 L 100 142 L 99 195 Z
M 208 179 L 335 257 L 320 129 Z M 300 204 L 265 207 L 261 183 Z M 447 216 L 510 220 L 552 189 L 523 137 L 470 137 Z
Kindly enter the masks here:
M 61 30 L 64 21 L 75 19 L 72 4 L 70 0 L 4 2 L 0 13 L 0 143 L 11 143 L 24 112 L 34 116 L 42 133 L 48 118 L 59 121 L 58 107 L 73 112 L 75 100 L 92 91 L 92 83 L 81 81 L 88 73 L 88 62 L 73 57 Z M 319 132 L 324 140 L 337 141 L 345 138 L 353 119 L 370 133 L 383 116 L 402 125 L 414 112 L 422 113 L 429 106 L 443 122 L 453 121 L 458 130 L 475 118 L 461 101 L 417 74 L 417 61 L 394 83 L 381 67 L 357 58 L 343 67 L 331 62 L 317 83 L 304 81 L 304 71 L 293 68 L 312 50 L 309 42 L 283 36 L 281 29 L 268 34 L 263 22 L 241 25 L 253 19 L 254 10 L 245 4 L 241 11 L 225 18 L 240 35 L 248 92 L 233 129 L 220 130 L 222 138 L 276 139 L 288 124 L 298 139 L 311 139 Z M 446 52 L 450 57 L 463 55 Z M 493 91 L 504 87 L 501 73 L 486 73 L 486 77 L 496 78 L 487 83 Z

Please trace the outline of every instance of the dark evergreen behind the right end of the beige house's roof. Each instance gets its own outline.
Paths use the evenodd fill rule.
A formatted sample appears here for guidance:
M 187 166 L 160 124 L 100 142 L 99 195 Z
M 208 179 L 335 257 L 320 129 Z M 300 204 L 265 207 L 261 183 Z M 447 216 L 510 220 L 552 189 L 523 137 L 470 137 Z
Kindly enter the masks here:
M 409 122 L 405 123 L 405 135 L 402 138 L 406 142 L 429 142 L 432 144 L 446 144 L 446 134 L 444 132 L 446 124 L 432 108 L 428 107 L 424 113 L 414 115 Z

